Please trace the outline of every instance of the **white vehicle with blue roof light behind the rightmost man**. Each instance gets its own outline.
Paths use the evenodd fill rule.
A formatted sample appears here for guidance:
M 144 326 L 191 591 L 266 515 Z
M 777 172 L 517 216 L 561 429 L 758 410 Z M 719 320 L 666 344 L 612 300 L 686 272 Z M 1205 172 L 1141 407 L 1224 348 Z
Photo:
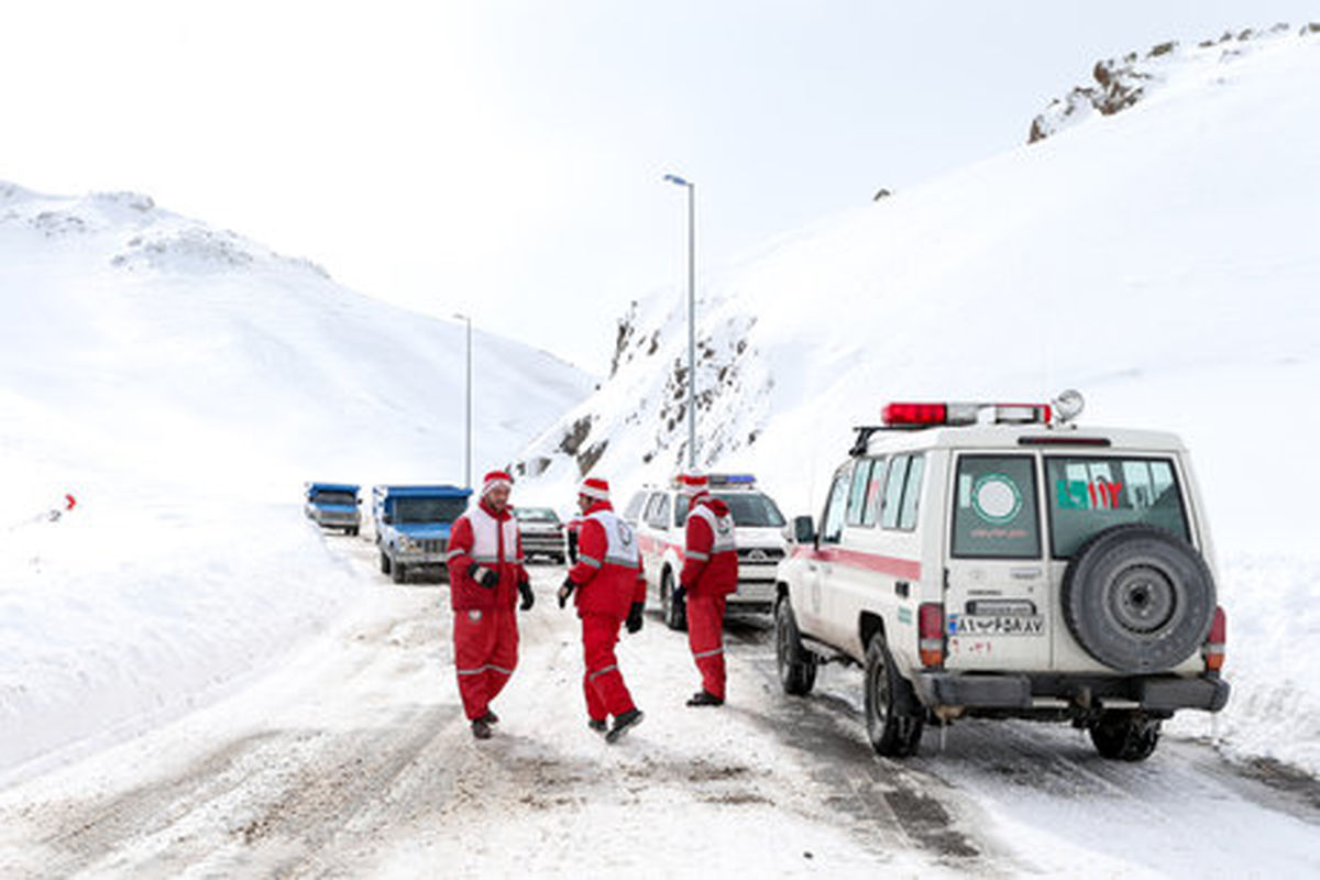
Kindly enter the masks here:
M 775 566 L 784 558 L 784 515 L 750 474 L 711 474 L 709 480 L 710 493 L 727 504 L 734 517 L 738 591 L 729 595 L 727 611 L 768 612 L 775 600 Z M 671 629 L 686 628 L 686 610 L 673 602 L 688 524 L 688 499 L 678 482 L 636 492 L 624 507 L 623 520 L 638 533 L 648 591 L 659 602 L 665 624 Z

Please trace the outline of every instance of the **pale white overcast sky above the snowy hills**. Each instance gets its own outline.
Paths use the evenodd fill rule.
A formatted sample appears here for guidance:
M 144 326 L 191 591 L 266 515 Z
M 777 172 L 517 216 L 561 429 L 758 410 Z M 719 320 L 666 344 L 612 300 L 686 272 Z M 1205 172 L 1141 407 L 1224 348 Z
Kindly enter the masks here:
M 1315 0 L 9 4 L 0 179 L 137 190 L 609 365 L 627 302 L 1026 141 L 1097 58 Z

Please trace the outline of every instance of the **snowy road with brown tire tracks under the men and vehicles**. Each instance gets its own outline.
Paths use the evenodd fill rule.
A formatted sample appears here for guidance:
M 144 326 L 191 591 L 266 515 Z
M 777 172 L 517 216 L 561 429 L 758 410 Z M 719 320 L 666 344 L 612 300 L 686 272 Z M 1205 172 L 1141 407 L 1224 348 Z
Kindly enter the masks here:
M 533 569 L 495 739 L 453 683 L 444 588 L 393 586 L 228 701 L 0 794 L 0 876 L 896 876 L 1320 873 L 1320 785 L 1166 739 L 1102 761 L 1063 727 L 965 723 L 876 759 L 859 676 L 777 693 L 768 621 L 729 627 L 731 703 L 688 710 L 685 640 L 655 617 L 620 662 L 647 720 L 585 728 L 576 619 Z

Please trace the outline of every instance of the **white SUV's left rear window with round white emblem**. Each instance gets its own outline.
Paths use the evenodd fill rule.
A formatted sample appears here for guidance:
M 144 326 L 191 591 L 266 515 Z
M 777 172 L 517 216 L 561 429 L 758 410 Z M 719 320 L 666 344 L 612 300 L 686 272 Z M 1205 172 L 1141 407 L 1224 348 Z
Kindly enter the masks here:
M 1040 558 L 1035 459 L 1030 455 L 964 455 L 958 459 L 953 555 Z

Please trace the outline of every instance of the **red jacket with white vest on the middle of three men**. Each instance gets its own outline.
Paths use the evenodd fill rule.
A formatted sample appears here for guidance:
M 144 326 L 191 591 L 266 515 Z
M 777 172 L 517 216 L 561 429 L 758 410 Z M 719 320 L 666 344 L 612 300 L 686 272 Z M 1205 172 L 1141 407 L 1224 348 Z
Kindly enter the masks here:
M 578 561 L 569 570 L 577 584 L 578 616 L 603 613 L 627 617 L 635 602 L 647 600 L 647 581 L 632 526 L 620 520 L 609 501 L 597 501 L 582 516 Z

